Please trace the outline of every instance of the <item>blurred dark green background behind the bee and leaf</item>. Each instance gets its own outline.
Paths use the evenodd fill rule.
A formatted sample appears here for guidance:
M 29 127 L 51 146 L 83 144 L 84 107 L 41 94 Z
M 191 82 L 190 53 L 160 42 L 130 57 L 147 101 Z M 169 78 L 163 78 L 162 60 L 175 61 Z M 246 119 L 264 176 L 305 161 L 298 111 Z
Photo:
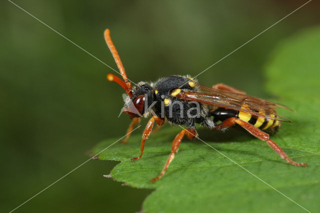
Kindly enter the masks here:
M 111 37 L 134 82 L 196 75 L 306 1 L 14 0 L 116 69 L 104 42 Z M 273 47 L 320 23 L 311 1 L 203 74 L 204 85 L 231 84 L 263 92 Z M 0 3 L 0 211 L 10 211 L 88 159 L 102 139 L 121 137 L 122 88 L 112 70 L 24 11 Z M 113 72 L 114 73 L 114 72 Z M 143 123 L 142 123 L 143 124 Z M 136 130 L 141 133 L 143 128 Z M 102 177 L 116 162 L 90 160 L 16 212 L 134 212 L 151 190 Z

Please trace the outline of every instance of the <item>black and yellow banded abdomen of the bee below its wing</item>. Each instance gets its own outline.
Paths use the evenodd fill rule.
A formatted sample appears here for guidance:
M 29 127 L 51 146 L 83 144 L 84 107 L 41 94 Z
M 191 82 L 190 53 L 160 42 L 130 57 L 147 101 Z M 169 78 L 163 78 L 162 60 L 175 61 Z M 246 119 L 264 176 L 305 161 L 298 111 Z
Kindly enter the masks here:
M 263 117 L 256 117 L 243 111 L 225 109 L 222 107 L 219 107 L 211 111 L 210 115 L 213 116 L 214 122 L 217 122 L 219 120 L 223 121 L 229 117 L 236 117 L 254 125 L 255 127 L 261 130 L 272 130 L 272 129 L 276 130 L 280 124 L 278 120 L 273 120 L 268 118 L 265 119 Z

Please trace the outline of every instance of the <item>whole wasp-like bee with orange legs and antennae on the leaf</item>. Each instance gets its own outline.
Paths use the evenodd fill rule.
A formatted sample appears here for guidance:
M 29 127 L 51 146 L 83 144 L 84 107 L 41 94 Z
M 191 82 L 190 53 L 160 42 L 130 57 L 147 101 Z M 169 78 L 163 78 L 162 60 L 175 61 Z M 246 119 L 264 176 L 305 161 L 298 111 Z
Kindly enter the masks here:
M 139 123 L 142 116 L 151 115 L 142 134 L 140 156 L 133 157 L 131 160 L 141 158 L 145 139 L 151 133 L 154 122 L 161 126 L 167 120 L 170 124 L 186 126 L 173 139 L 171 153 L 162 171 L 158 176 L 151 179 L 151 182 L 160 179 L 164 174 L 184 135 L 189 139 L 197 137 L 195 123 L 209 129 L 222 131 L 233 125 L 239 125 L 253 136 L 266 141 L 288 163 L 295 166 L 307 165 L 290 159 L 266 133 L 276 132 L 280 126 L 280 121 L 291 122 L 289 119 L 276 114 L 275 111 L 276 107 L 292 110 L 289 107 L 248 96 L 244 91 L 222 83 L 215 84 L 212 87 L 203 86 L 189 76 L 167 76 L 154 83 L 141 81 L 132 87 L 110 38 L 109 29 L 104 31 L 104 39 L 123 78 L 122 80 L 109 73 L 107 79 L 115 81 L 125 89 L 127 97 L 123 111 L 129 114 L 132 119 L 127 129 L 127 135 L 122 142 L 128 140 L 133 126 Z

